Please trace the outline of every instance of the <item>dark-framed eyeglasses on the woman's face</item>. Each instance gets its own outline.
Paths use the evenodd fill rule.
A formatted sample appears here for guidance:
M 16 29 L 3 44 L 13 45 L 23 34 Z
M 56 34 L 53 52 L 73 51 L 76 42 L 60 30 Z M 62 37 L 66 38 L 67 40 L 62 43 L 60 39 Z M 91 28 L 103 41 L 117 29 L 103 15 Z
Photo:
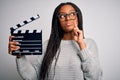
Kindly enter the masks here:
M 60 13 L 60 14 L 58 15 L 58 18 L 59 18 L 61 21 L 65 21 L 67 17 L 69 17 L 70 20 L 75 20 L 77 13 L 78 13 L 78 12 L 71 12 L 71 13 L 69 13 L 69 14 Z

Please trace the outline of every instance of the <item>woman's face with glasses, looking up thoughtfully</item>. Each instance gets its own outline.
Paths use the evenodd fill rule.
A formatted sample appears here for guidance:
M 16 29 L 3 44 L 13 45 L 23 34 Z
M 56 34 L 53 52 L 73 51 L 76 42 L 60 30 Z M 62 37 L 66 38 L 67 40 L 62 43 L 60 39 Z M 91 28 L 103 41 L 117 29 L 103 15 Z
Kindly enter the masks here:
M 71 5 L 62 6 L 58 17 L 64 32 L 71 32 L 78 24 L 77 12 Z

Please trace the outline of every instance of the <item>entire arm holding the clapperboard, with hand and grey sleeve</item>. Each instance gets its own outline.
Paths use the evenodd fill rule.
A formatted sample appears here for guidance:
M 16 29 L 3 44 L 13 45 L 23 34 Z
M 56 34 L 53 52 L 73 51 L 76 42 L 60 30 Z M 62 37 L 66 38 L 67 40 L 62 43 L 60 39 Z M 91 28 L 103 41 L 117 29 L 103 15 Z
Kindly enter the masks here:
M 11 55 L 12 55 L 12 51 L 19 49 L 19 46 L 16 46 L 19 43 L 12 41 L 13 37 L 14 36 L 9 37 L 9 43 L 8 43 L 8 48 L 9 48 L 8 51 L 9 54 Z M 38 80 L 39 69 L 42 63 L 42 58 L 44 56 L 46 46 L 47 46 L 47 42 L 45 42 L 43 45 L 43 54 L 36 56 L 37 58 L 36 61 L 34 61 L 33 65 L 27 60 L 26 56 L 21 56 L 21 55 L 16 56 L 17 70 L 20 76 L 24 80 Z

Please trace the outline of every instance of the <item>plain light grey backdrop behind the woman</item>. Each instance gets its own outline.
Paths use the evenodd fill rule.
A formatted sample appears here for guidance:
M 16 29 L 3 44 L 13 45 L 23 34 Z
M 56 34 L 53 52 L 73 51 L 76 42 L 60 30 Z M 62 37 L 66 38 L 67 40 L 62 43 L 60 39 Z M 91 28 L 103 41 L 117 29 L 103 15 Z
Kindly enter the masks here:
M 103 80 L 120 80 L 120 0 L 0 0 L 0 80 L 22 80 L 15 57 L 8 54 L 10 27 L 39 14 L 40 19 L 23 29 L 42 29 L 44 42 L 55 7 L 67 1 L 81 9 L 85 37 L 97 43 Z M 34 62 L 34 56 L 28 59 Z

